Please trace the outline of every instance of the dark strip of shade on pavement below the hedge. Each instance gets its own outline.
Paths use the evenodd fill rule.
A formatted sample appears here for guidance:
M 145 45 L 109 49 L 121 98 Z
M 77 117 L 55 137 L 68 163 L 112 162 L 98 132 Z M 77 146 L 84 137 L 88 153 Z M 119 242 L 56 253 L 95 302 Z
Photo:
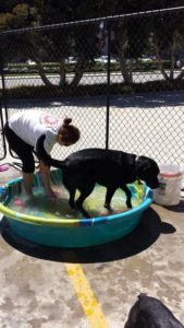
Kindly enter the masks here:
M 168 92 L 147 92 L 138 93 L 133 95 L 111 95 L 110 106 L 118 108 L 128 108 L 136 109 L 137 107 L 144 109 L 154 109 L 160 106 L 162 107 L 174 107 L 183 106 L 184 103 L 184 92 L 183 91 L 168 91 Z M 70 97 L 58 97 L 54 99 L 15 99 L 9 101 L 9 107 L 13 109 L 26 109 L 26 108 L 46 108 L 46 107 L 106 107 L 107 99 L 106 95 L 101 96 L 70 96 Z

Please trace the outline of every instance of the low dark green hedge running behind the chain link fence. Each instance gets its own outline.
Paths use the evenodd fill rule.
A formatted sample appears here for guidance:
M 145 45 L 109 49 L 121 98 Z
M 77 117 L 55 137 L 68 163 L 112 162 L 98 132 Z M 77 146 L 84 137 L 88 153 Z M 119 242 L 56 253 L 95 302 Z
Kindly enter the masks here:
M 145 83 L 110 84 L 110 94 L 130 94 L 139 92 L 163 92 L 172 90 L 184 90 L 184 81 L 148 81 Z M 107 84 L 78 85 L 76 87 L 65 86 L 16 86 L 8 89 L 5 96 L 9 99 L 16 98 L 56 98 L 63 96 L 97 96 L 107 95 Z

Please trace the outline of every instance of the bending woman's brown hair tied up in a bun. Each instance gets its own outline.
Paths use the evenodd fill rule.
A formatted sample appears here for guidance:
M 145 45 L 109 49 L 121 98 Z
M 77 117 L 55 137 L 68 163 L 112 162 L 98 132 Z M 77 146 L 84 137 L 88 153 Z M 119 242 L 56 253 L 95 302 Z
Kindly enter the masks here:
M 64 118 L 62 126 L 60 127 L 58 134 L 61 138 L 63 143 L 72 144 L 78 141 L 79 130 L 71 125 L 72 118 Z

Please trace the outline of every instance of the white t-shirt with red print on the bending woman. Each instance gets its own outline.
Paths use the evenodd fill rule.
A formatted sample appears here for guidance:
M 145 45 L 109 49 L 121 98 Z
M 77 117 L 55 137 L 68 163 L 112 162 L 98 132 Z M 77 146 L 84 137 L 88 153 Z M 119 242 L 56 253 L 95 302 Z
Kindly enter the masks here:
M 9 127 L 13 132 L 26 143 L 33 145 L 34 149 L 37 139 L 41 134 L 46 134 L 44 147 L 48 154 L 50 154 L 57 142 L 57 134 L 61 124 L 59 118 L 51 114 L 29 109 L 16 113 L 9 119 Z

